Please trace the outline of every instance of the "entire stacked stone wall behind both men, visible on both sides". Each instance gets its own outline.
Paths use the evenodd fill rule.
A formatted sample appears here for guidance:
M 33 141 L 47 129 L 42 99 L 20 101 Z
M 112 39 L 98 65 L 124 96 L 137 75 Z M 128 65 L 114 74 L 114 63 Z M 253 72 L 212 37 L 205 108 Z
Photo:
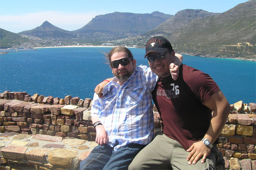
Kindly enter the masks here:
M 94 141 L 90 117 L 91 99 L 45 97 L 26 92 L 0 94 L 0 132 L 74 137 Z M 256 170 L 256 104 L 239 101 L 231 105 L 227 123 L 219 136 L 218 149 L 225 169 Z M 154 108 L 155 128 L 161 127 Z

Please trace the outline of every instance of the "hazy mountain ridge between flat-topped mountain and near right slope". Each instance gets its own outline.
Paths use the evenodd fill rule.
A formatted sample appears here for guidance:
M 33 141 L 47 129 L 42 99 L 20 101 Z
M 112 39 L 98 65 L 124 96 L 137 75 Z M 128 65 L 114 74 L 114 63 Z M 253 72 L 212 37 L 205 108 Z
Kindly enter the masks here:
M 174 17 L 169 18 L 165 22 L 161 23 L 156 28 L 148 31 L 145 35 L 151 34 L 171 34 L 175 30 L 186 26 L 192 20 L 202 17 L 213 16 L 218 13 L 207 12 L 201 9 L 185 9 L 178 11 Z

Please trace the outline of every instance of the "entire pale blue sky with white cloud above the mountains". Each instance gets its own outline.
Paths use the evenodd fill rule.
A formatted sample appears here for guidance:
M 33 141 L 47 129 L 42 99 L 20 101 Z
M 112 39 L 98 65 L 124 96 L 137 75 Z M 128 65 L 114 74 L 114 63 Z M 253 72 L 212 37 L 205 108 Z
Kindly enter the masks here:
M 97 15 L 115 11 L 175 15 L 184 9 L 222 13 L 247 0 L 0 0 L 0 28 L 14 33 L 48 21 L 64 30 L 82 28 Z

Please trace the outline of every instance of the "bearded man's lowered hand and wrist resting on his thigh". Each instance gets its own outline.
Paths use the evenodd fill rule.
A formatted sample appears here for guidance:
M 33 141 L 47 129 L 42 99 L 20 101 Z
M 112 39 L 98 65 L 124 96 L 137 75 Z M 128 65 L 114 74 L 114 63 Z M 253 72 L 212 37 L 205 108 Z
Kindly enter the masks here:
M 96 117 L 96 116 L 92 116 L 92 122 L 93 124 L 95 122 L 99 122 L 99 118 Z M 96 129 L 96 139 L 95 139 L 95 142 L 99 145 L 103 145 L 103 144 L 107 144 L 108 143 L 108 133 L 107 131 L 105 130 L 104 126 L 103 125 L 97 125 L 95 127 Z

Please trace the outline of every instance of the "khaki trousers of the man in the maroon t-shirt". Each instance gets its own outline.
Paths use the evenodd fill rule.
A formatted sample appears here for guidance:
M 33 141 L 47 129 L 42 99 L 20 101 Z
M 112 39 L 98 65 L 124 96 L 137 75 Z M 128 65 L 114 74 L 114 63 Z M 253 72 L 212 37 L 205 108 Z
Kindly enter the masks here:
M 210 155 L 202 164 L 201 159 L 196 164 L 189 165 L 186 160 L 189 152 L 183 149 L 179 142 L 163 133 L 157 135 L 129 165 L 129 170 L 215 170 L 215 162 L 219 153 L 213 146 Z

